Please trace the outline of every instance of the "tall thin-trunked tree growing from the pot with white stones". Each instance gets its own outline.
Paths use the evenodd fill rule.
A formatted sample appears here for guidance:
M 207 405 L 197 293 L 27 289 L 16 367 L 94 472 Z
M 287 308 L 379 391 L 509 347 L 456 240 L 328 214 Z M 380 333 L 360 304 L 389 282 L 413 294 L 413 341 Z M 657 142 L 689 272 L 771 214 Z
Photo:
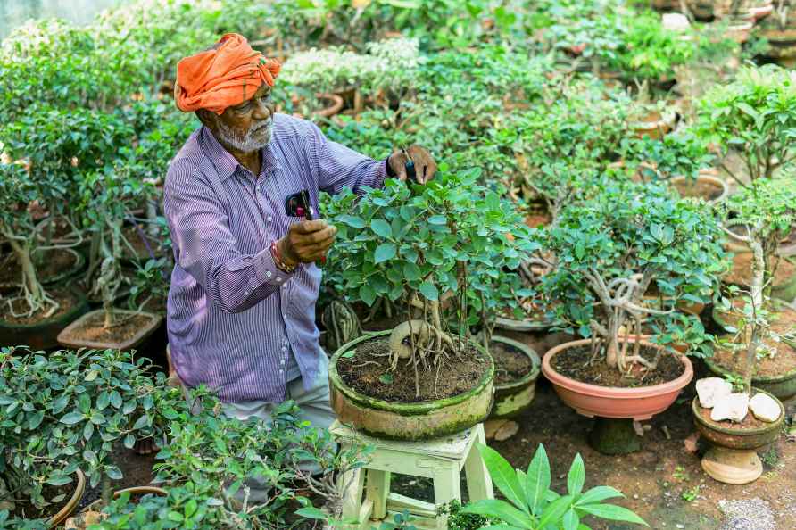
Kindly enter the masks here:
M 796 222 L 796 180 L 785 178 L 759 179 L 729 198 L 724 209 L 734 218 L 725 220 L 725 231 L 732 239 L 748 244 L 752 261 L 750 288 L 745 307 L 739 308 L 732 301 L 724 300 L 723 311 L 735 313 L 728 331 L 734 332 L 731 340 L 725 341 L 734 351 L 745 352 L 742 379 L 746 392 L 751 389 L 755 361 L 766 355 L 774 355 L 767 339 L 778 343 L 782 337 L 770 329 L 769 302 L 774 284 L 776 268 L 780 260 L 776 255 L 777 244 L 791 232 Z M 734 226 L 745 228 L 744 234 L 732 230 Z M 740 315 L 738 315 L 740 313 Z

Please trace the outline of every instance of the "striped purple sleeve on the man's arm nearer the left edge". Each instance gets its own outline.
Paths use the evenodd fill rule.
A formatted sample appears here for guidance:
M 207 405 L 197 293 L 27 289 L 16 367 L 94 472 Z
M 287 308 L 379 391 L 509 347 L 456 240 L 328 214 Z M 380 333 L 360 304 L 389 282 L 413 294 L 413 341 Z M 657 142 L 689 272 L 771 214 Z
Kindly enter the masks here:
M 170 169 L 163 202 L 179 266 L 203 286 L 208 302 L 230 313 L 276 293 L 292 274 L 276 267 L 271 242 L 258 253 L 241 253 L 212 186 L 180 169 Z

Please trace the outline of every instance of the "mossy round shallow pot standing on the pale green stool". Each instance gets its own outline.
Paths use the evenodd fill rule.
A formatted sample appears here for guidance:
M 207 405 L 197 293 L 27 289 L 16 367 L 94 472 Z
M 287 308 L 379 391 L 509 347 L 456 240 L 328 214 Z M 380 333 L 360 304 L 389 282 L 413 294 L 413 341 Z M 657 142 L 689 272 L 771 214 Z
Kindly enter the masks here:
M 489 416 L 494 393 L 494 362 L 477 343 L 472 344 L 489 361 L 488 369 L 474 388 L 444 400 L 387 402 L 369 397 L 346 385 L 337 373 L 340 356 L 351 351 L 357 344 L 390 333 L 392 331 L 387 330 L 363 335 L 344 344 L 329 361 L 330 401 L 332 410 L 341 423 L 377 438 L 418 441 L 458 433 Z

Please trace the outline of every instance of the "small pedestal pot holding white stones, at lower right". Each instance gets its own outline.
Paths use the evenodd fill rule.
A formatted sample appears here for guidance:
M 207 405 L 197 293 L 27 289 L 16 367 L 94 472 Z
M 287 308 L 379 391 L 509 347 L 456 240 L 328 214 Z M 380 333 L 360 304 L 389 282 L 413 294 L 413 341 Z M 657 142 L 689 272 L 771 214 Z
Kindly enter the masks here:
M 754 429 L 730 429 L 701 417 L 699 397 L 693 398 L 691 403 L 694 425 L 712 444 L 702 457 L 702 469 L 718 482 L 749 484 L 757 480 L 763 473 L 763 465 L 756 450 L 774 442 L 782 430 L 785 418 L 782 402 L 758 388 L 752 388 L 752 392 L 766 393 L 779 404 L 782 412 L 775 422 Z

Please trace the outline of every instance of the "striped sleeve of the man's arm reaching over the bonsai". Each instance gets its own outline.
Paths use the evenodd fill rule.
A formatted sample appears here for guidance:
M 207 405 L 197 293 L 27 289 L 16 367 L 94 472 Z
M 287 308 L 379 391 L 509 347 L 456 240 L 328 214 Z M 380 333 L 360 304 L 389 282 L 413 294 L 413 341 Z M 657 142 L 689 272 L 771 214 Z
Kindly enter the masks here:
M 314 124 L 311 124 L 311 129 L 311 155 L 317 163 L 320 189 L 334 195 L 344 187 L 349 187 L 361 195 L 364 191 L 362 186 L 377 188 L 384 185 L 385 161 L 373 160 L 329 140 Z

